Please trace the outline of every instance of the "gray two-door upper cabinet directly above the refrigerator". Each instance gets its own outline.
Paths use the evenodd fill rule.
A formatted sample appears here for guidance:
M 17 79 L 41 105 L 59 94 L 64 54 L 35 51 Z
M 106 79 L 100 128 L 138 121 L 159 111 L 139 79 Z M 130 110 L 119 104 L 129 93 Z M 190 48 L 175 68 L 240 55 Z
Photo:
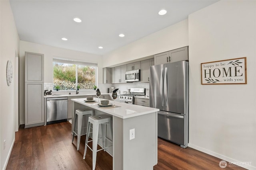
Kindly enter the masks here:
M 188 60 L 188 46 L 154 56 L 155 65 Z

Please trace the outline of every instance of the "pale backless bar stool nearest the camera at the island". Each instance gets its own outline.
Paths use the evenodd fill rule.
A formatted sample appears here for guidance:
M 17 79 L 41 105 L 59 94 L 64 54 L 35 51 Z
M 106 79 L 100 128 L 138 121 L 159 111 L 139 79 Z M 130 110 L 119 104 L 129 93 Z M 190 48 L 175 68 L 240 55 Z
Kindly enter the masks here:
M 90 132 L 90 127 L 92 124 L 92 132 Z M 110 125 L 110 131 L 111 131 L 111 137 L 113 138 L 113 131 L 112 131 L 112 117 L 109 115 L 95 115 L 95 116 L 90 116 L 88 119 L 88 126 L 87 126 L 87 135 L 86 135 L 86 141 L 85 141 L 85 148 L 84 148 L 84 159 L 86 155 L 86 150 L 88 146 L 88 142 L 92 142 L 92 149 L 89 147 L 90 150 L 92 150 L 92 170 L 95 170 L 96 167 L 96 156 L 97 152 L 100 150 L 104 151 L 106 148 L 111 147 L 112 145 L 106 147 L 106 140 L 112 142 L 112 140 L 108 139 L 106 137 L 106 125 Z M 101 125 L 101 131 L 102 131 L 102 144 L 103 148 L 97 150 L 98 146 L 98 134 L 99 134 L 99 126 Z M 92 133 L 92 140 L 88 141 L 89 135 Z M 112 142 L 113 143 L 113 142 Z

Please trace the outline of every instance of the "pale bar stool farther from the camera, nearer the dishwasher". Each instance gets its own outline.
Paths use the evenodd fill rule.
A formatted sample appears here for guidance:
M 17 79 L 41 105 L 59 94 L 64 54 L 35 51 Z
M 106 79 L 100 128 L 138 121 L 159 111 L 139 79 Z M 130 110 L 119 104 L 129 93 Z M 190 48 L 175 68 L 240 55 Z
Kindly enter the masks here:
M 86 135 L 86 133 L 81 134 L 83 117 L 84 116 L 88 116 L 88 117 L 93 116 L 93 114 L 94 114 L 94 110 L 92 110 L 92 109 L 76 110 L 75 119 L 74 119 L 74 130 L 73 130 L 72 143 L 74 141 L 74 136 L 76 134 L 77 135 L 77 150 L 79 150 L 81 136 Z M 77 132 L 75 132 L 76 120 L 77 120 Z M 88 119 L 87 119 L 86 123 L 88 123 Z M 85 127 L 85 128 L 87 128 L 87 127 Z M 87 129 L 86 129 L 86 132 L 87 132 Z

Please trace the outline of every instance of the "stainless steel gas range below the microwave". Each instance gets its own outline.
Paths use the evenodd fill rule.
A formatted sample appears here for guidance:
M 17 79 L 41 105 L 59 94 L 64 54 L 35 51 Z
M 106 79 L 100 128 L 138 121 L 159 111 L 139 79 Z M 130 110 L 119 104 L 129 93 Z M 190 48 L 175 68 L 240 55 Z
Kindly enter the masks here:
M 134 96 L 145 96 L 145 88 L 131 88 L 130 94 L 121 94 L 119 102 L 134 104 Z

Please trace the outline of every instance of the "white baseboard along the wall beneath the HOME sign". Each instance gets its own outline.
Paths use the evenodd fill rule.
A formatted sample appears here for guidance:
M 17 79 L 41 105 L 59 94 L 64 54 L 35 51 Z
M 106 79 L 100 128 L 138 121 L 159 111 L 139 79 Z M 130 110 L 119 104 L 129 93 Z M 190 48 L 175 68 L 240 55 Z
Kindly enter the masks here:
M 199 150 L 199 151 L 204 152 L 204 153 L 206 153 L 206 154 L 210 154 L 210 155 L 212 155 L 212 156 L 214 156 L 214 157 L 220 158 L 220 159 L 225 160 L 225 161 L 227 161 L 227 162 L 238 162 L 238 164 L 239 164 L 238 166 L 241 166 L 241 167 L 246 168 L 246 169 L 248 169 L 248 170 L 256 170 L 256 167 L 255 167 L 255 166 L 252 166 L 252 165 L 243 165 L 243 164 L 244 164 L 243 162 L 240 162 L 240 161 L 238 161 L 238 160 L 234 160 L 234 159 L 232 159 L 232 158 L 229 158 L 229 157 L 224 156 L 224 155 L 222 155 L 222 154 L 218 154 L 218 153 L 216 153 L 216 152 L 212 152 L 211 150 L 204 149 L 204 148 L 202 148 L 202 147 L 198 147 L 197 145 L 193 145 L 193 144 L 190 144 L 190 143 L 189 143 L 189 144 L 188 144 L 188 147 L 193 148 L 193 149 L 196 149 L 196 150 Z

